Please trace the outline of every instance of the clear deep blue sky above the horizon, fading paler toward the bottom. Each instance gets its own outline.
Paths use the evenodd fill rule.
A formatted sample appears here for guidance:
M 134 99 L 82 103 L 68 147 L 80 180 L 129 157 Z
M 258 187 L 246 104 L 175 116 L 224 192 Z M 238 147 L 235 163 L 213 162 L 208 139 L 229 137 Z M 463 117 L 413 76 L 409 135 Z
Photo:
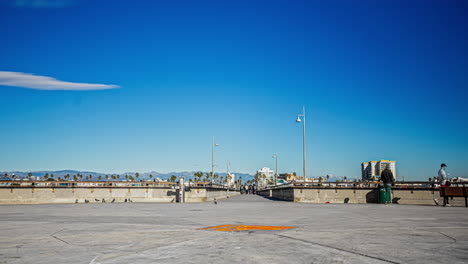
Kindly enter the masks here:
M 441 162 L 468 177 L 467 11 L 0 0 L 0 71 L 80 83 L 0 85 L 0 170 L 208 171 L 216 136 L 218 171 L 273 168 L 277 153 L 280 172 L 300 173 L 305 106 L 309 177 L 360 177 L 373 159 L 396 160 L 406 179 Z

